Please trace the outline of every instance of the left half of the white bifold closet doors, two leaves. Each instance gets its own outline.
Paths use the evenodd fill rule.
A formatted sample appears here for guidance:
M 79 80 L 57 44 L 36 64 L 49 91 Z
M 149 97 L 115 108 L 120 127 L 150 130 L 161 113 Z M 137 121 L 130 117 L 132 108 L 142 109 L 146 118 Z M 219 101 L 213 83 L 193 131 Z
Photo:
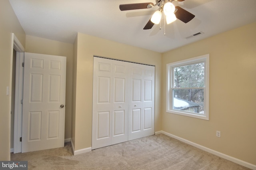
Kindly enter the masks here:
M 92 149 L 128 140 L 126 64 L 94 57 Z

